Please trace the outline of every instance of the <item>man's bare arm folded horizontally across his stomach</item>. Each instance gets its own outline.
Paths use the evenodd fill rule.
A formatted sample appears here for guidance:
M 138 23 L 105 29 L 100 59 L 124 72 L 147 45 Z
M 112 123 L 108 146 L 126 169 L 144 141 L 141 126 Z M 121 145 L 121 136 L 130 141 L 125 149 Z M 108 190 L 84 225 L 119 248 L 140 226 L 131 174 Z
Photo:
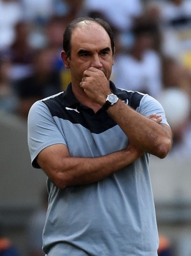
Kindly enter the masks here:
M 66 188 L 94 183 L 131 164 L 143 153 L 131 144 L 122 151 L 97 158 L 70 157 L 64 144 L 46 147 L 38 155 L 38 164 L 55 186 Z

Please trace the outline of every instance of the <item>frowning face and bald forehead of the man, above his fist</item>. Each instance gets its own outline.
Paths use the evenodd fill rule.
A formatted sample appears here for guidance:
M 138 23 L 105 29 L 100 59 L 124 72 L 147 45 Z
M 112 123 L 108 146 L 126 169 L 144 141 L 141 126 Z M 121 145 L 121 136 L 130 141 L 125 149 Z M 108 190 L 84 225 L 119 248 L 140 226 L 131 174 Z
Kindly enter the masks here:
M 113 66 L 110 36 L 95 22 L 81 22 L 71 35 L 71 57 L 67 59 L 73 84 L 80 84 L 90 67 L 104 72 L 109 80 Z

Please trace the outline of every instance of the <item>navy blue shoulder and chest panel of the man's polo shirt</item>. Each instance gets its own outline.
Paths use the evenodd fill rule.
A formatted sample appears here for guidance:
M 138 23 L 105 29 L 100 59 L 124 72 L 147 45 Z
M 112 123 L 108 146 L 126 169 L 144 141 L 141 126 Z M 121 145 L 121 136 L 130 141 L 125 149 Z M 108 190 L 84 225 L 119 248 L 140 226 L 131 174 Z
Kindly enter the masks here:
M 141 98 L 143 98 L 143 94 L 122 91 L 117 88 L 114 93 L 124 102 L 128 102 L 128 105 L 135 110 L 139 107 Z M 94 113 L 92 109 L 82 106 L 73 98 L 71 98 L 73 105 L 68 105 L 69 99 L 66 94 L 60 93 L 52 98 L 43 100 L 52 116 L 59 117 L 63 121 L 68 120 L 73 124 L 81 124 L 93 133 L 101 133 L 117 125 L 104 109 L 100 109 L 97 113 Z

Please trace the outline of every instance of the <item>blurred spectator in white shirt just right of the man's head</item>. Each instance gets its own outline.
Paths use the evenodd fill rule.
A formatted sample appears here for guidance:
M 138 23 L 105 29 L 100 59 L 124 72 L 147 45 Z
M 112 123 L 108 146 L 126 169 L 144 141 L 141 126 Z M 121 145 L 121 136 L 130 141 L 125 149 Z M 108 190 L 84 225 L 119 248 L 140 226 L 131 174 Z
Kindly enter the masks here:
M 157 96 L 162 89 L 160 56 L 154 50 L 155 24 L 138 24 L 132 29 L 132 46 L 118 54 L 113 66 L 113 80 L 118 87 Z

